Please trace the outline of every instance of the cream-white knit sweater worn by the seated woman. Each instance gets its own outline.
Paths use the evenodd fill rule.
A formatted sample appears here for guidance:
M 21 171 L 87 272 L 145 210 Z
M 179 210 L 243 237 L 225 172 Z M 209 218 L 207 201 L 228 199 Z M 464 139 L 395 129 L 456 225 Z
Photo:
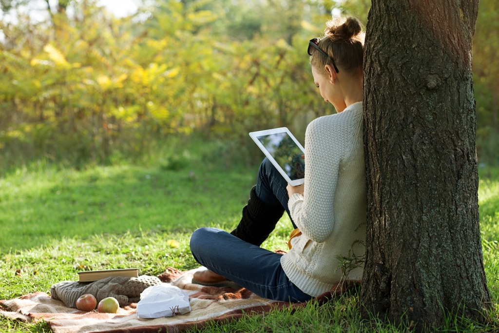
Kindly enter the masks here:
M 293 194 L 288 202 L 302 234 L 280 262 L 289 280 L 310 296 L 340 281 L 335 256 L 364 255 L 365 178 L 361 102 L 308 124 L 303 196 Z M 361 279 L 362 271 L 354 269 L 348 279 Z

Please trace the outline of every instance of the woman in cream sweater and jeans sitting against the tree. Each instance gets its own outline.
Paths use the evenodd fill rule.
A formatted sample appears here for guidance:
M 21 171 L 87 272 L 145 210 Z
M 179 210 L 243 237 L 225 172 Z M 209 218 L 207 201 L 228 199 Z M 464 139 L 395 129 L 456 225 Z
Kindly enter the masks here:
M 238 227 L 231 234 L 214 228 L 194 232 L 191 252 L 209 269 L 197 272 L 194 283 L 223 286 L 232 281 L 264 298 L 303 302 L 342 278 L 362 277 L 362 267 L 347 277 L 338 268 L 341 257 L 364 255 L 363 33 L 353 17 L 326 26 L 322 39 L 310 40 L 308 54 L 314 83 L 337 114 L 307 126 L 304 184 L 288 185 L 263 160 Z M 284 210 L 299 229 L 289 252 L 261 249 Z

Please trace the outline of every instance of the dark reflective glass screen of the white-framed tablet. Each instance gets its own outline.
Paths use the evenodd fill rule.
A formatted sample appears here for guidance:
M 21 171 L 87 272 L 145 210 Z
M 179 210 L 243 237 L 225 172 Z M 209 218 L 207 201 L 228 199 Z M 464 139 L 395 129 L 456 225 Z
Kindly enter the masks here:
M 257 139 L 291 180 L 305 177 L 303 152 L 286 132 L 259 135 Z

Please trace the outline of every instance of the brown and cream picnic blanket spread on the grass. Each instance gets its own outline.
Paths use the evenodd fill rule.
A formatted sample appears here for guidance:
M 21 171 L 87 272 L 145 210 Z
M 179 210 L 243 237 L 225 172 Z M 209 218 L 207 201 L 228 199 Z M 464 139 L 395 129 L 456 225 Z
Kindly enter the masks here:
M 116 314 L 78 311 L 66 307 L 63 302 L 54 300 L 42 292 L 13 300 L 1 300 L 0 314 L 30 323 L 44 320 L 53 333 L 153 333 L 160 329 L 161 332 L 185 332 L 192 328 L 202 328 L 208 323 L 227 323 L 243 316 L 306 305 L 306 303 L 292 304 L 263 299 L 245 288 L 235 290 L 192 284 L 193 274 L 197 270 L 181 273 L 169 268 L 165 274 L 159 276 L 164 283 L 177 286 L 189 295 L 191 312 L 181 316 L 138 319 L 135 313 L 136 303 L 118 309 Z M 310 302 L 323 304 L 332 298 L 340 297 L 359 284 L 359 281 L 346 281 Z

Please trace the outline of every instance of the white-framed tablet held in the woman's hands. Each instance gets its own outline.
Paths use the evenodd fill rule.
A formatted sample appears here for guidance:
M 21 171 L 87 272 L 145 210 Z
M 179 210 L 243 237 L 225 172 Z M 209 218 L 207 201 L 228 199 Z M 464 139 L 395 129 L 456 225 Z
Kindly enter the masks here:
M 305 150 L 286 127 L 251 132 L 250 137 L 291 186 L 303 184 Z

